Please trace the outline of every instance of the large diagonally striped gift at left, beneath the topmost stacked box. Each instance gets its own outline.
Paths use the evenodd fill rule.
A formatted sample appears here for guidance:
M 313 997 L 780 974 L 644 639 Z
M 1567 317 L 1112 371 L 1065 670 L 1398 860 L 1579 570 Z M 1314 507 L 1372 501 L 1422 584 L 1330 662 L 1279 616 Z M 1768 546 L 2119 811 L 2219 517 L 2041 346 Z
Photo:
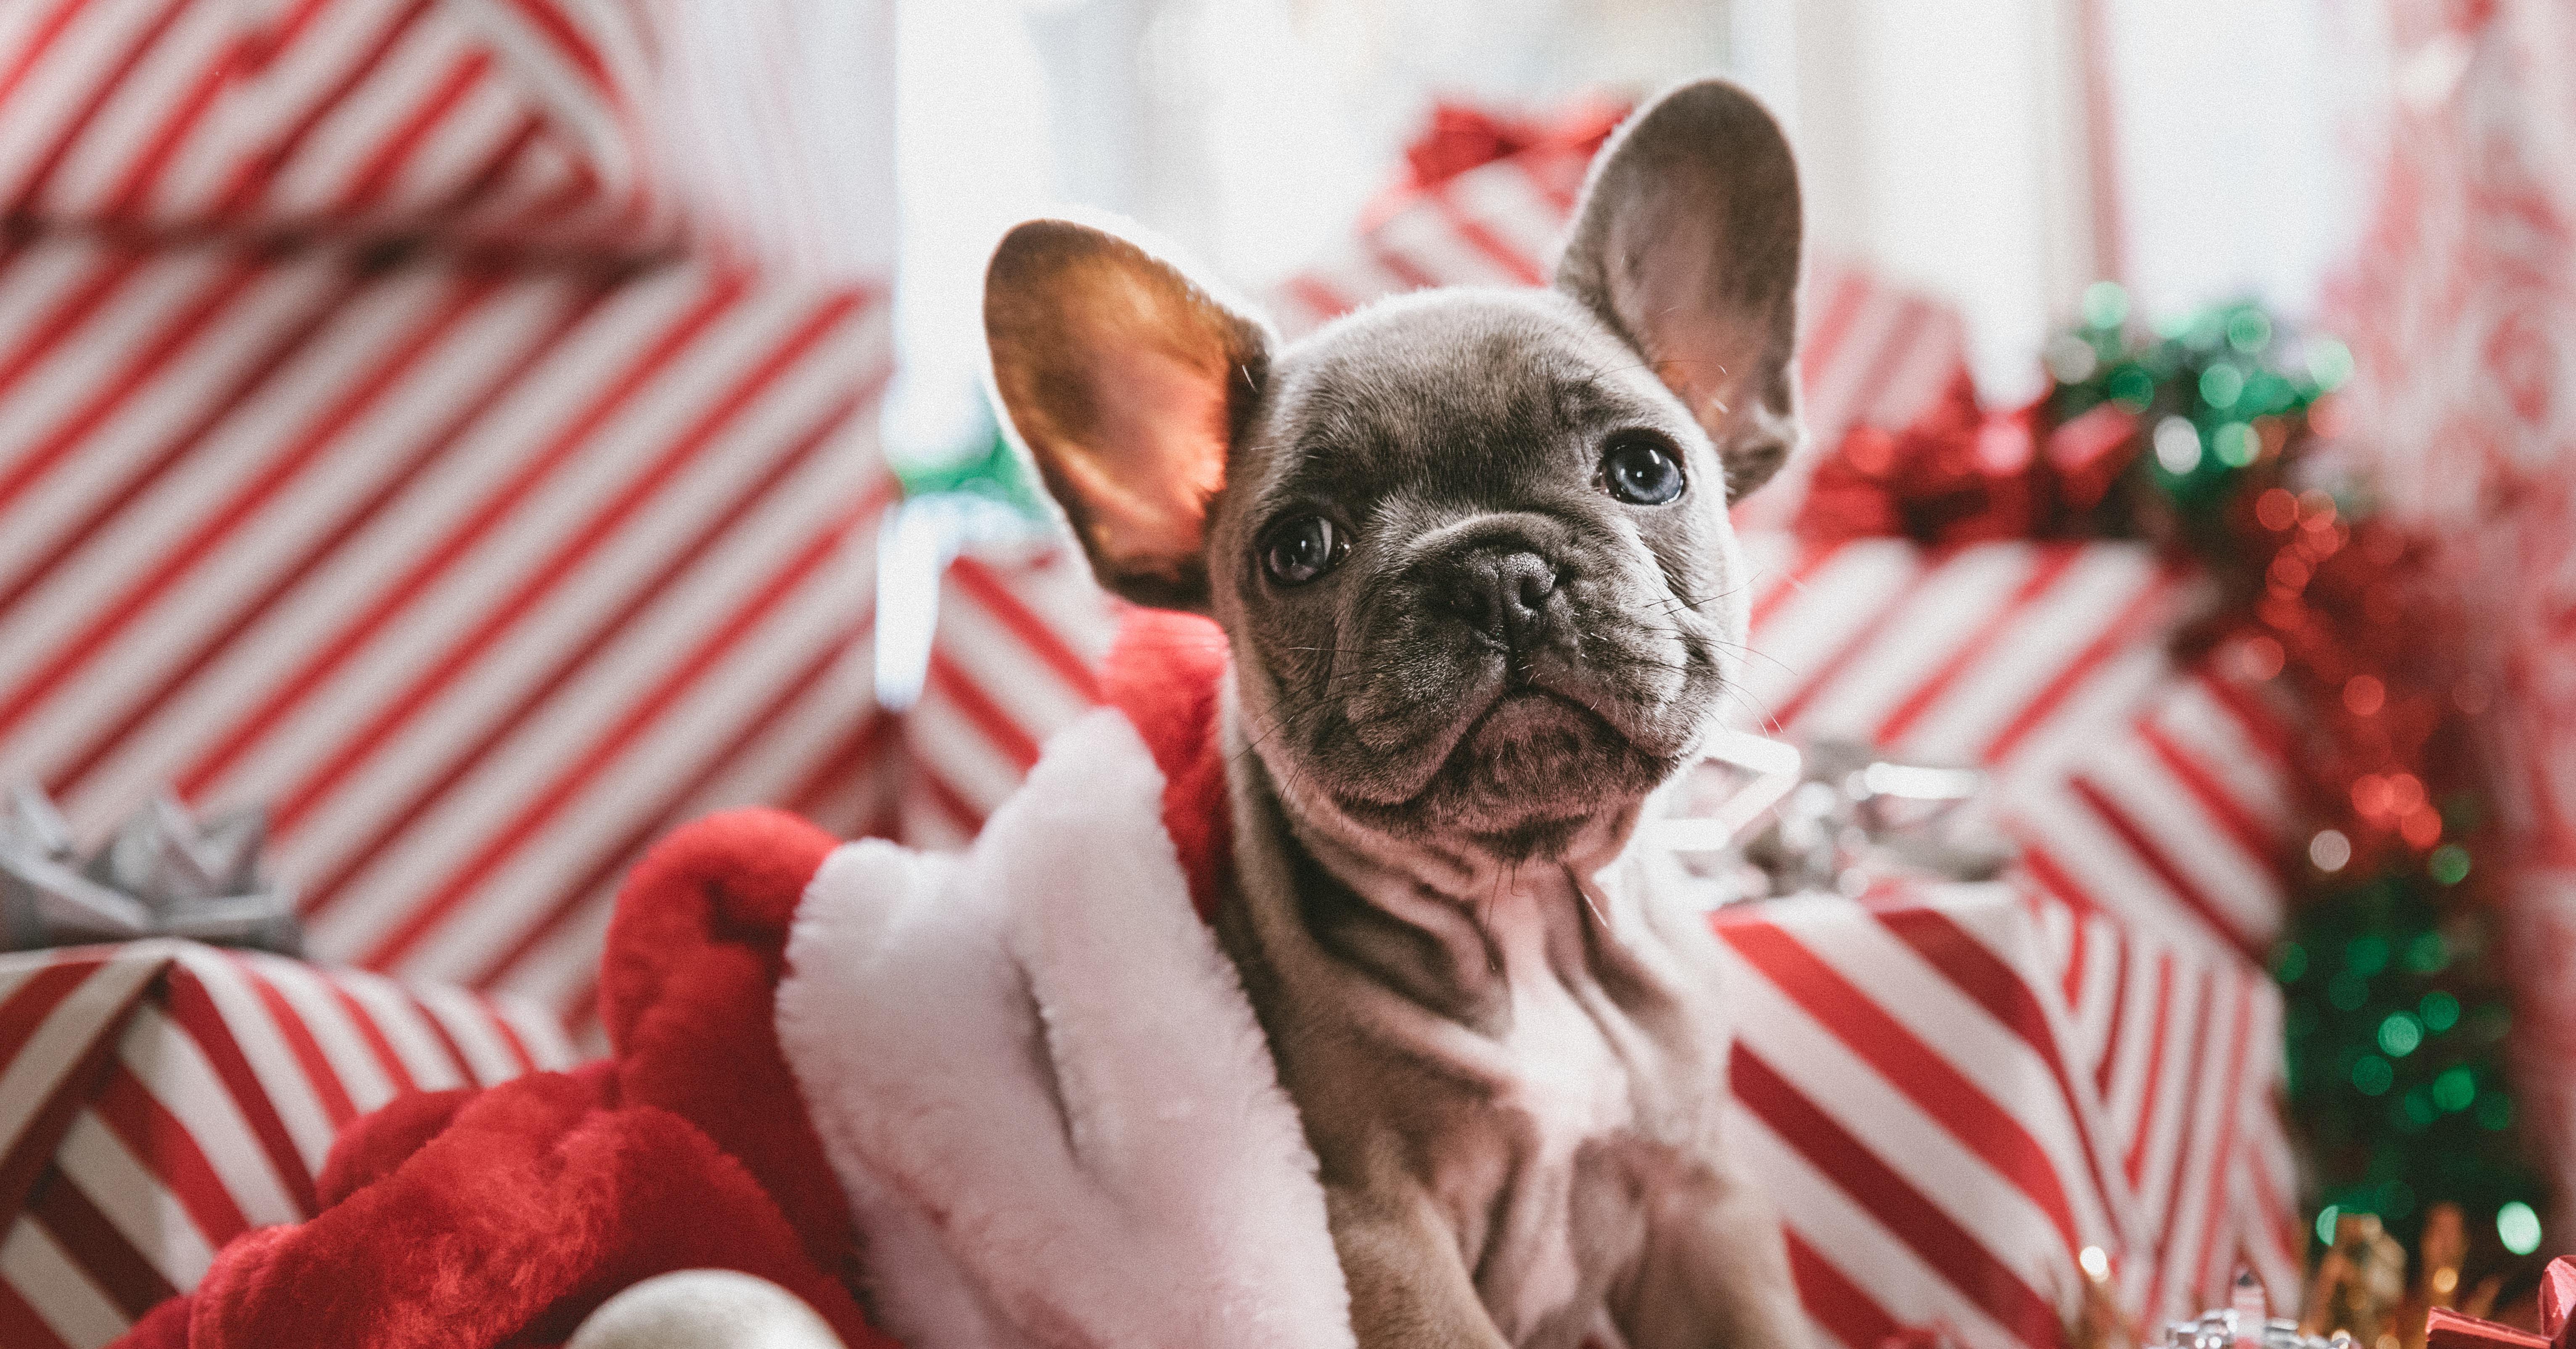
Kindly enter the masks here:
M 317 958 L 587 1017 L 675 821 L 881 819 L 878 293 L 0 252 L 0 777 L 268 803 Z

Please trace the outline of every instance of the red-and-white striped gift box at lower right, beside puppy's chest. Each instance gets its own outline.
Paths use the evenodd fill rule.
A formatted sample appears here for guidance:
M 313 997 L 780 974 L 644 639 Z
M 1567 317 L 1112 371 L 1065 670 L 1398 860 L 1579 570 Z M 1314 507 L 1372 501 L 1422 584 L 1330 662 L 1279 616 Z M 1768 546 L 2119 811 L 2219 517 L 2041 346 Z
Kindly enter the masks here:
M 1728 1146 L 1788 1228 L 1819 1331 L 2053 1349 L 2099 1246 L 2154 1318 L 2239 1261 L 2298 1298 L 2272 1112 L 2280 994 L 2251 965 L 2012 886 L 1721 909 Z M 2156 994 L 2130 989 L 2148 981 Z

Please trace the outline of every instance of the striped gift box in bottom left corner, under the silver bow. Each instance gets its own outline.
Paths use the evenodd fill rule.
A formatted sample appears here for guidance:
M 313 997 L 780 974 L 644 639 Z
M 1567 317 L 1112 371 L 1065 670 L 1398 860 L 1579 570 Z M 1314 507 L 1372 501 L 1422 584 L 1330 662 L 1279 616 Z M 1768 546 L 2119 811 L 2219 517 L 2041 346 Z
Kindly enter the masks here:
M 397 1092 L 572 1063 L 531 1004 L 193 942 L 0 958 L 0 1344 L 93 1349 L 314 1213 Z

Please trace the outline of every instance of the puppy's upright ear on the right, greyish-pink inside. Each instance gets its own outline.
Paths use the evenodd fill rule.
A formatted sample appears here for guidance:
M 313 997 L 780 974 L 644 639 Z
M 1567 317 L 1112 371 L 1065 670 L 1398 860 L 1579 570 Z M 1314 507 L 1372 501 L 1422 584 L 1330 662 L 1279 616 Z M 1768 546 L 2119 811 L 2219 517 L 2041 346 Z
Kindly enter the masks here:
M 1592 160 L 1556 286 L 1708 427 L 1728 499 L 1798 445 L 1798 165 L 1762 103 L 1674 88 Z

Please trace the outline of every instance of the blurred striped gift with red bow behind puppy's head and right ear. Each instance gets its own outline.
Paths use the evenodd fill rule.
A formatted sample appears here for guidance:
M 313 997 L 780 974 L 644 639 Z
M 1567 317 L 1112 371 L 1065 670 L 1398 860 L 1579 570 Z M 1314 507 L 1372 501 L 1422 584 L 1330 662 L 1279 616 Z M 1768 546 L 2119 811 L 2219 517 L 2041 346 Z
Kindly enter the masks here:
M 1587 149 L 1538 147 L 1417 191 L 1342 250 L 1288 278 L 1270 312 L 1291 337 L 1373 299 L 1427 286 L 1538 286 L 1564 252 Z M 1811 257 L 1798 309 L 1798 384 L 1808 443 L 1860 425 L 1914 425 L 1968 381 L 1958 309 L 1865 268 Z M 1739 507 L 1752 528 L 1785 525 L 1814 456 Z

